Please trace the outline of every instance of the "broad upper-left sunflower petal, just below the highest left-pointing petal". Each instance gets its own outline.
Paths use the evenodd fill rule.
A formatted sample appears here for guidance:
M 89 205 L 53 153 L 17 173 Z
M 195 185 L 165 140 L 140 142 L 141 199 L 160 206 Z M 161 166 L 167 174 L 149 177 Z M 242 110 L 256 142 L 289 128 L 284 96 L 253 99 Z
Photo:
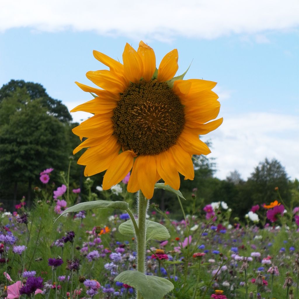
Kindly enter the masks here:
M 95 85 L 114 93 L 123 92 L 127 87 L 122 77 L 108 70 L 89 71 L 86 77 Z

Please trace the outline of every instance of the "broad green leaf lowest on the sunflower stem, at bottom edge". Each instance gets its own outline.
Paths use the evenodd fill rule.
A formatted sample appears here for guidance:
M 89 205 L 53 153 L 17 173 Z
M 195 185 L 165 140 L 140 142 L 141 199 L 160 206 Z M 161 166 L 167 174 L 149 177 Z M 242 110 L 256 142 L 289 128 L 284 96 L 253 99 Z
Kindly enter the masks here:
M 132 286 L 144 299 L 161 299 L 174 288 L 173 284 L 165 278 L 145 275 L 139 271 L 124 271 L 118 274 L 114 281 Z

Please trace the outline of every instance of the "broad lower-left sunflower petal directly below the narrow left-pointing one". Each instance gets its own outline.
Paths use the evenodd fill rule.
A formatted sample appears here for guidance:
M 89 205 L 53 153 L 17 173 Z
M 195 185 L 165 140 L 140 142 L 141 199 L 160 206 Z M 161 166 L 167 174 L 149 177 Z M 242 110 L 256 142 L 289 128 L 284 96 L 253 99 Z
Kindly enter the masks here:
M 80 165 L 95 164 L 96 161 L 100 161 L 114 153 L 116 149 L 120 149 L 120 144 L 117 143 L 115 136 L 110 136 L 100 144 L 86 149 L 77 163 Z

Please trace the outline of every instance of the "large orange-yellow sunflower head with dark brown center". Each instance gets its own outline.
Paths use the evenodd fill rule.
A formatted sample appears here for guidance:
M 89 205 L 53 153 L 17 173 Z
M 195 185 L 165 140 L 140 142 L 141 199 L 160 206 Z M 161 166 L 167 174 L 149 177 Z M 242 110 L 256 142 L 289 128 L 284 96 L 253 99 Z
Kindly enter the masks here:
M 107 170 L 103 189 L 108 190 L 132 170 L 127 190 L 141 190 L 147 199 L 161 178 L 178 190 L 179 173 L 194 178 L 192 155 L 210 153 L 199 135 L 222 123 L 222 118 L 210 121 L 220 109 L 211 90 L 216 83 L 182 80 L 184 74 L 174 77 L 177 49 L 164 56 L 158 69 L 153 49 L 142 41 L 137 51 L 126 44 L 123 64 L 98 51 L 93 54 L 109 70 L 86 73 L 101 89 L 76 82 L 96 96 L 71 110 L 94 114 L 73 129 L 81 140 L 87 138 L 74 149 L 75 154 L 88 148 L 77 162 L 86 165 L 84 175 Z

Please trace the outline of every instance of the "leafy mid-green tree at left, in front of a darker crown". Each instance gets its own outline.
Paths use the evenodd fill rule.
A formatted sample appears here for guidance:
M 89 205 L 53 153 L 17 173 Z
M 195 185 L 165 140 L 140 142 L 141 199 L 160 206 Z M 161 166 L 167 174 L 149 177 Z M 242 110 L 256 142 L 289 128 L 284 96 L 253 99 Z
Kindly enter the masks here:
M 1 185 L 14 182 L 16 190 L 18 182 L 27 182 L 30 196 L 31 184 L 39 177 L 41 170 L 46 167 L 67 167 L 69 145 L 65 140 L 69 130 L 48 114 L 41 100 L 24 104 L 27 94 L 24 94 L 23 89 L 16 91 L 22 91 L 19 93 L 22 94 L 19 98 L 22 104 L 18 108 L 13 109 L 12 101 L 7 98 L 1 102 L 1 114 L 3 111 L 12 111 L 6 123 L 1 122 Z M 15 99 L 14 96 L 12 98 Z

